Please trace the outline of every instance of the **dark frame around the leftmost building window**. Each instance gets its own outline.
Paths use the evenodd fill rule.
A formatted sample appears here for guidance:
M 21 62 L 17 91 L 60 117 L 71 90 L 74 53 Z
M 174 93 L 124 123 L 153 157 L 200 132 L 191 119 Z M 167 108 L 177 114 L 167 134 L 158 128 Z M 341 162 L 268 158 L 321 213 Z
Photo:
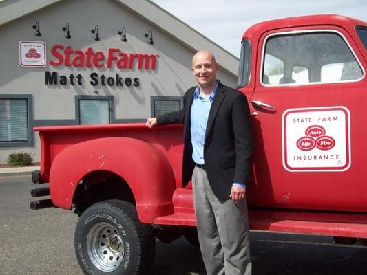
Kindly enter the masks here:
M 20 146 L 34 146 L 34 133 L 32 131 L 34 126 L 33 121 L 33 97 L 30 94 L 1 94 L 0 99 L 22 99 L 27 101 L 27 131 L 28 131 L 28 140 L 27 141 L 9 141 L 9 142 L 0 142 L 0 147 L 20 147 Z

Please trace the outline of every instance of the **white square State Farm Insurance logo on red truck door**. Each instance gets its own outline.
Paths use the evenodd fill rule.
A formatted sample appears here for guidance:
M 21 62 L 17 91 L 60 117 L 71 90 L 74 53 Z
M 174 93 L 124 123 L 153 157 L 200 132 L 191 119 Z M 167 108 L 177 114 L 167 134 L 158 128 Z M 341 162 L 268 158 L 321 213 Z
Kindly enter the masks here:
M 346 107 L 289 109 L 283 113 L 283 166 L 289 171 L 344 171 L 350 167 Z

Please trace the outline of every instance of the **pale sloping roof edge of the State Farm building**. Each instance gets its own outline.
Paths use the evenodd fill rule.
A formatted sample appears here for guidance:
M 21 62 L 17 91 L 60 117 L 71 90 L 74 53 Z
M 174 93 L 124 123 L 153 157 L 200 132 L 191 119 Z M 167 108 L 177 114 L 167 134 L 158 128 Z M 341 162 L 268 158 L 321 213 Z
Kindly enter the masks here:
M 0 1 L 0 27 L 21 17 L 41 10 L 63 0 L 7 0 Z M 216 61 L 221 69 L 233 76 L 238 73 L 238 58 L 224 50 L 222 47 L 203 36 L 180 19 L 160 8 L 159 5 L 149 0 L 114 0 L 131 10 L 145 21 L 159 28 L 162 32 L 179 41 L 182 45 L 193 51 L 209 50 L 216 56 Z M 239 38 L 240 39 L 240 38 Z M 240 45 L 239 45 L 240 47 Z

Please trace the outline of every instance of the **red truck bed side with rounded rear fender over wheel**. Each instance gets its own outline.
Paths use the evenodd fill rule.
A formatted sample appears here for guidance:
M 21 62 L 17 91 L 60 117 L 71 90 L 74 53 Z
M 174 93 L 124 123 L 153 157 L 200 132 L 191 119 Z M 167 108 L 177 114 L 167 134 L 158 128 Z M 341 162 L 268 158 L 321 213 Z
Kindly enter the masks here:
M 145 124 L 35 128 L 41 137 L 41 173 L 50 182 L 55 206 L 70 210 L 78 183 L 91 175 L 118 175 L 134 193 L 139 219 L 154 223 L 174 214 L 173 196 L 191 196 L 182 189 L 182 126 L 149 131 Z M 108 186 L 106 186 L 108 188 Z M 176 192 L 175 192 L 176 191 Z M 193 215 L 192 199 L 184 199 L 184 214 Z M 75 202 L 75 201 L 74 201 Z M 195 225 L 189 216 L 185 225 Z M 184 221 L 175 221 L 181 224 Z

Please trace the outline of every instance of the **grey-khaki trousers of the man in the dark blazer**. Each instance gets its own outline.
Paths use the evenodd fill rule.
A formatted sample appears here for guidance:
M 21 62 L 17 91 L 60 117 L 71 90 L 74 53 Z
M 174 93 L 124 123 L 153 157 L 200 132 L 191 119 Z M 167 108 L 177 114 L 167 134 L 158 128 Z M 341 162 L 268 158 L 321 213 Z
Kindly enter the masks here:
M 193 200 L 202 259 L 207 275 L 249 275 L 251 256 L 246 200 L 219 200 L 207 173 L 193 170 Z

